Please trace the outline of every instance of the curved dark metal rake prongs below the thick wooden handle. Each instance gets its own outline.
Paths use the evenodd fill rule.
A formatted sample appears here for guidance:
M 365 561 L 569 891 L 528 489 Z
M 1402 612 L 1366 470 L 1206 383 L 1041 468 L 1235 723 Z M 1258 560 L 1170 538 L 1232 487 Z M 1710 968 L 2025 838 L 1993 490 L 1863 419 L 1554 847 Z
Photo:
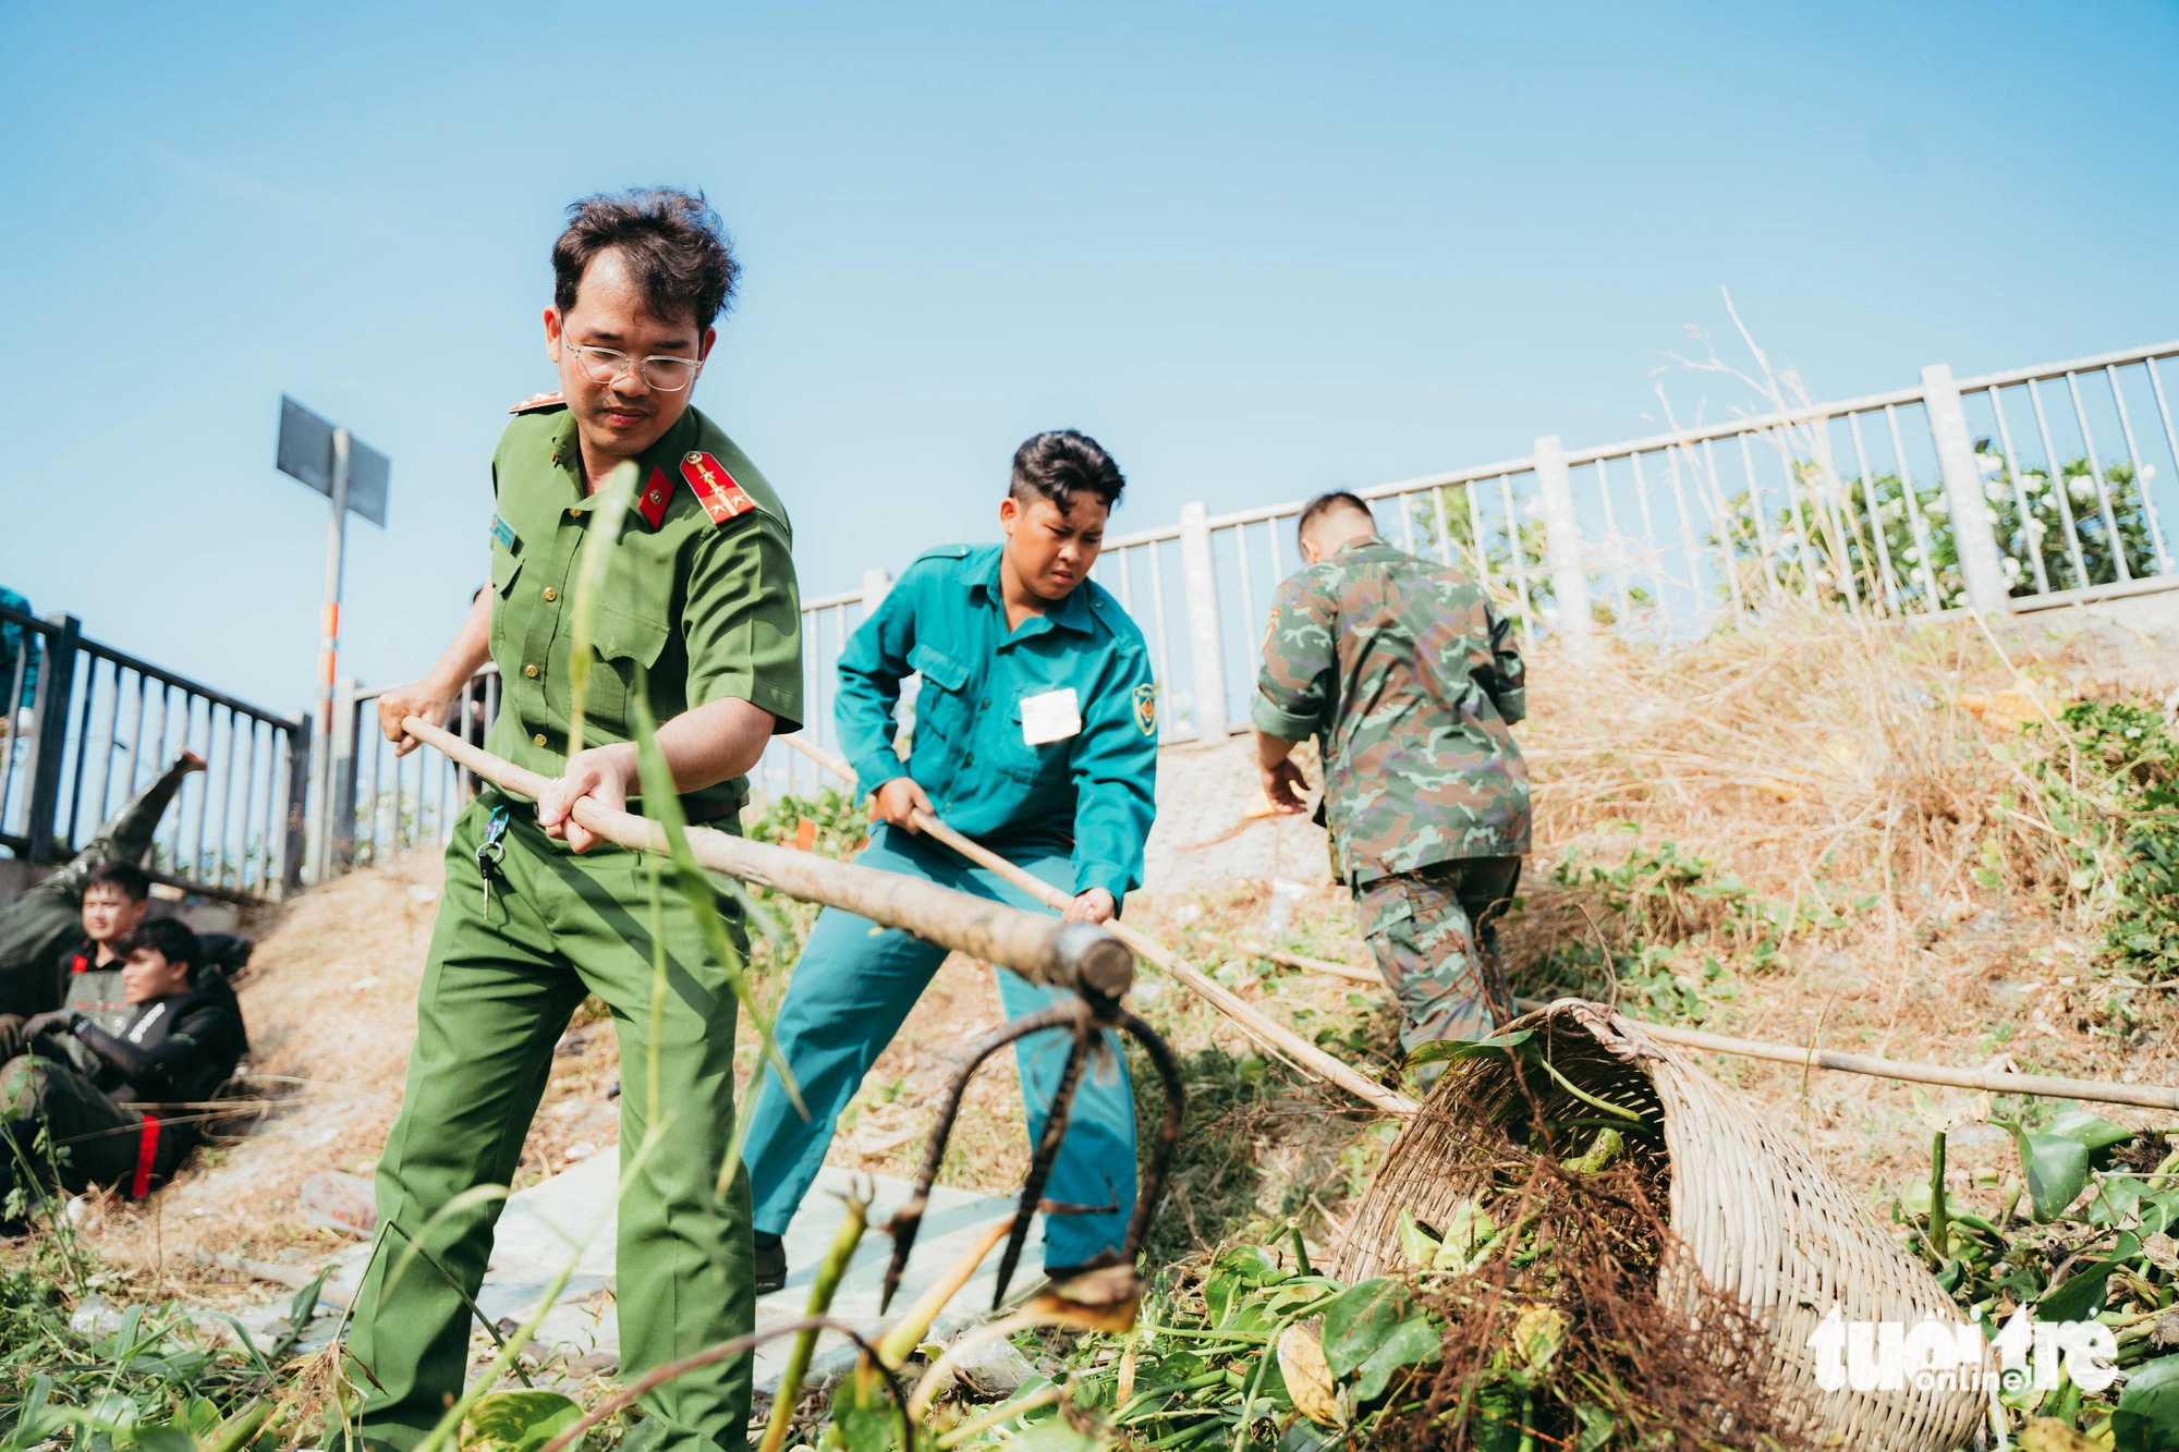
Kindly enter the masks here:
M 1059 1075 L 1059 1088 L 1052 1094 L 1050 1110 L 1044 1118 L 1044 1134 L 1037 1136 L 1037 1149 L 1028 1160 L 1028 1177 L 1022 1182 L 1022 1197 L 1015 1203 L 1013 1225 L 1007 1234 L 1007 1254 L 998 1265 L 998 1284 L 991 1291 L 991 1310 L 998 1310 L 1007 1302 L 1007 1284 L 1013 1280 L 1013 1271 L 1022 1260 L 1022 1245 L 1028 1241 L 1028 1221 L 1037 1214 L 1037 1210 L 1042 1208 L 1046 1214 L 1083 1212 L 1081 1206 L 1046 1203 L 1044 1182 L 1050 1177 L 1052 1164 L 1059 1160 L 1059 1145 L 1066 1140 L 1068 1121 L 1074 1114 L 1074 1094 L 1081 1090 L 1083 1068 L 1087 1066 L 1090 1053 L 1098 1044 L 1098 1036 L 1107 1031 L 1131 1036 L 1151 1055 L 1151 1062 L 1157 1066 L 1159 1086 L 1166 1094 L 1166 1112 L 1157 1121 L 1157 1140 L 1151 1147 L 1148 1173 L 1142 1179 L 1142 1190 L 1135 1195 L 1135 1210 L 1127 1223 L 1127 1243 L 1118 1251 L 1107 1251 L 1079 1269 L 1096 1271 L 1111 1265 L 1135 1265 L 1135 1254 L 1142 1249 L 1142 1236 L 1151 1227 L 1151 1214 L 1157 1210 L 1157 1201 L 1166 1190 L 1166 1166 L 1172 1162 L 1172 1147 L 1181 1138 L 1181 1116 L 1188 1110 L 1188 1088 L 1181 1081 L 1181 1062 L 1174 1057 L 1172 1046 L 1157 1036 L 1157 1029 L 1142 1023 L 1142 1018 L 1127 1012 L 1116 1001 L 1076 996 L 1068 1003 L 1059 1003 L 1044 1012 L 1028 1014 L 1026 1018 L 1015 1018 L 1009 1025 L 1000 1025 L 970 1044 L 967 1060 L 946 1088 L 939 1123 L 933 1127 L 930 1142 L 924 1147 L 924 1164 L 915 1175 L 915 1193 L 887 1225 L 893 1236 L 893 1260 L 885 1267 L 885 1293 L 878 1302 L 880 1315 L 887 1306 L 891 1306 L 893 1291 L 900 1288 L 900 1275 L 909 1267 L 909 1251 L 915 1249 L 915 1234 L 922 1230 L 924 1210 L 930 1206 L 930 1186 L 939 1177 L 939 1162 L 946 1158 L 946 1140 L 952 1138 L 952 1127 L 961 1114 L 961 1097 L 967 1092 L 970 1077 L 987 1057 L 1007 1044 L 1044 1029 L 1072 1029 L 1070 1038 L 1074 1042 L 1068 1046 L 1068 1064 Z

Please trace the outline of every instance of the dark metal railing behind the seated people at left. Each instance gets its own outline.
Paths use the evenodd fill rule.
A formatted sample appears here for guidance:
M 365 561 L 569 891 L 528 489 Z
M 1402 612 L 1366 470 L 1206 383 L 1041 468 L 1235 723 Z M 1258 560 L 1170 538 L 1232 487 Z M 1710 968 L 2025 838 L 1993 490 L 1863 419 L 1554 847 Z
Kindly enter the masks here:
M 153 876 L 222 898 L 301 883 L 309 722 L 83 637 L 72 615 L 0 606 L 11 637 L 0 735 L 0 848 L 72 857 L 183 750 L 205 759 L 153 837 Z

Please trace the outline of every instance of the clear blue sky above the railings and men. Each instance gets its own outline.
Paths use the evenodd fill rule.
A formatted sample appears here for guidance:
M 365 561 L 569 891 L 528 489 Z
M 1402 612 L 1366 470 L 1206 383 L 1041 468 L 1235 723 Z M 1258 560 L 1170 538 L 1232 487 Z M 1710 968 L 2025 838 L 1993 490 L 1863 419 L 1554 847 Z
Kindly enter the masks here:
M 1120 530 L 1650 432 L 1719 283 L 1819 397 L 2162 340 L 2172 55 L 2125 2 L 0 4 L 0 582 L 305 709 L 285 390 L 392 456 L 344 669 L 423 671 L 560 207 L 632 183 L 737 238 L 697 401 L 806 593 L 989 534 L 1039 427 Z

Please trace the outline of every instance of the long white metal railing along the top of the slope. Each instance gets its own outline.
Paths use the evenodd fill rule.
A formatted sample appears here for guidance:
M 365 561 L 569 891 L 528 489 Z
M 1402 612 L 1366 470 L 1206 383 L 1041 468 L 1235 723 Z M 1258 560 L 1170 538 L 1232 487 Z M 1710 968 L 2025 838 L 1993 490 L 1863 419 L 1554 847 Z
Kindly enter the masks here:
M 2179 477 L 2179 432 L 2157 364 L 2175 355 L 2164 342 L 1970 379 L 1937 364 L 1891 392 L 1573 451 L 1545 436 L 1525 458 L 1355 493 L 1386 539 L 1480 580 L 1525 648 L 1580 650 L 1597 630 L 1687 639 L 1789 597 L 1894 619 L 2170 589 L 2157 484 Z M 1105 543 L 1094 578 L 1151 648 L 1161 741 L 1246 724 L 1301 506 L 1183 504 L 1179 523 Z M 802 604 L 804 730 L 828 750 L 839 652 L 889 580 L 869 571 L 861 591 Z M 841 785 L 784 743 L 754 776 L 763 794 Z M 421 781 L 390 791 L 366 796 L 360 855 L 423 839 L 397 820 L 442 837 Z

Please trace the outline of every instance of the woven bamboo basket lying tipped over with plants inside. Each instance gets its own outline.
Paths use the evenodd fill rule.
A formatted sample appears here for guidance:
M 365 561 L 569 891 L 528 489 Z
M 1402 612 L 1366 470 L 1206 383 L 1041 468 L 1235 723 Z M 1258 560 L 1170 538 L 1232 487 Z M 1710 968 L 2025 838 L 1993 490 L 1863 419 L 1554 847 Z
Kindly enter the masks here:
M 1702 1284 L 1734 1297 L 1763 1328 L 1763 1360 L 1780 1411 L 1819 1445 L 1950 1452 L 1976 1437 L 1979 1391 L 1822 1391 L 1809 1336 L 1839 1308 L 1846 1321 L 1963 1323 L 1952 1299 L 1846 1188 L 1793 1140 L 1761 1123 L 1695 1064 L 1641 1025 L 1562 999 L 1512 1025 L 1534 1029 L 1549 1062 L 1588 1094 L 1663 1118 L 1673 1243 L 1658 1299 L 1689 1317 Z M 1556 1084 L 1536 1084 L 1543 1118 L 1593 1114 Z M 1458 1060 L 1408 1121 L 1347 1227 L 1338 1273 L 1364 1280 L 1403 1267 L 1399 1212 L 1442 1223 L 1477 1193 L 1477 1125 L 1451 1105 L 1521 1092 L 1504 1060 Z M 1473 1110 L 1471 1110 L 1473 1116 Z M 1700 1278 L 1700 1280 L 1697 1280 Z

